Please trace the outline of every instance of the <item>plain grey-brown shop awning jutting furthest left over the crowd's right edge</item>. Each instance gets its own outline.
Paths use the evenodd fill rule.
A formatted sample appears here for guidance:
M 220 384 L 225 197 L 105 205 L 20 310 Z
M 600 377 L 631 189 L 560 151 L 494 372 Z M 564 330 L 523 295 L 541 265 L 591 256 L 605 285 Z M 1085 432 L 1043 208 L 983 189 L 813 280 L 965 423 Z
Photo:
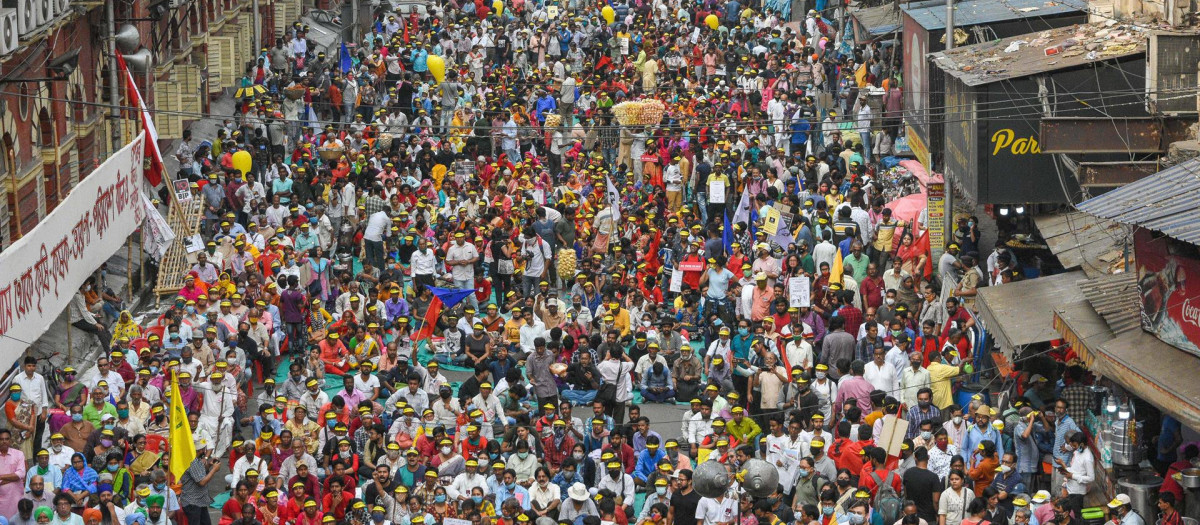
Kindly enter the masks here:
M 1056 307 L 1082 301 L 1079 282 L 1084 272 L 1039 277 L 979 289 L 976 306 L 984 327 L 1002 350 L 1058 338 L 1054 327 Z

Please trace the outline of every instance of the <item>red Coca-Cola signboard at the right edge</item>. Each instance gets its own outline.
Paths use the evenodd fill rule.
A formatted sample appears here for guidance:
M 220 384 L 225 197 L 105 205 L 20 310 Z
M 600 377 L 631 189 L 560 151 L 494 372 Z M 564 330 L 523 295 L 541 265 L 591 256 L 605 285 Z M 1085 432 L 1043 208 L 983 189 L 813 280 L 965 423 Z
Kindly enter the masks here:
M 1134 233 L 1141 327 L 1200 355 L 1200 249 L 1147 229 Z M 1190 283 L 1190 286 L 1189 286 Z

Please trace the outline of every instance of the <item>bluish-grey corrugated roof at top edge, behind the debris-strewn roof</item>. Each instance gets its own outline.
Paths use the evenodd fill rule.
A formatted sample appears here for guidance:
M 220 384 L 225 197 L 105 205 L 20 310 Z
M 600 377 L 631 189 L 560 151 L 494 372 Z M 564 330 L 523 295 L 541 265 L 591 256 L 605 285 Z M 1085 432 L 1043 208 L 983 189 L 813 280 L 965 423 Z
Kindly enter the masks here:
M 938 5 L 910 4 L 901 10 L 929 31 L 946 29 L 946 2 Z M 966 28 L 1021 18 L 1076 13 L 1086 10 L 1086 0 L 965 0 L 954 5 L 954 25 Z

